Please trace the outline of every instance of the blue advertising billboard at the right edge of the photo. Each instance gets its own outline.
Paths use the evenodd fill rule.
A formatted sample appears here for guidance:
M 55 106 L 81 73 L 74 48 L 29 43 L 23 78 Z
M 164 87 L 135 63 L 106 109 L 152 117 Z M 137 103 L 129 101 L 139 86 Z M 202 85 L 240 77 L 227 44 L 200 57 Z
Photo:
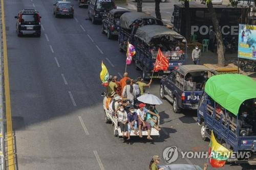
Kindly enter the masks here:
M 256 26 L 239 25 L 238 58 L 256 60 Z

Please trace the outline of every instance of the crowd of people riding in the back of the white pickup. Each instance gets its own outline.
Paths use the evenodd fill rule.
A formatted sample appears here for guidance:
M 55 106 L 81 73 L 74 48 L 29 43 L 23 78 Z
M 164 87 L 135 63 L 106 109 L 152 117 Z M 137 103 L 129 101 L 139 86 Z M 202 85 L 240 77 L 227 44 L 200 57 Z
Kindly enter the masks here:
M 149 87 L 141 77 L 137 80 L 131 79 L 127 72 L 124 72 L 123 78 L 118 81 L 117 76 L 111 77 L 106 94 L 106 109 L 116 117 L 122 137 L 130 139 L 130 134 L 139 134 L 142 137 L 142 131 L 147 131 L 147 139 L 152 140 L 151 129 L 160 131 L 159 113 L 155 105 L 144 104 L 137 101 L 140 95 L 145 92 L 145 87 Z

